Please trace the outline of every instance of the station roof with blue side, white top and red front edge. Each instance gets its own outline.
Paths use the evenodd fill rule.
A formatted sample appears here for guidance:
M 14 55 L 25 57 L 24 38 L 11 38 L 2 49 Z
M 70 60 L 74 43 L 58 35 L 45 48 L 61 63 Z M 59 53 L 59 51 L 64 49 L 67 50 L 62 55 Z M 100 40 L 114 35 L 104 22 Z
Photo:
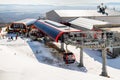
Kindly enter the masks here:
M 58 39 L 66 32 L 80 31 L 50 20 L 38 20 L 34 25 L 56 42 L 58 42 Z

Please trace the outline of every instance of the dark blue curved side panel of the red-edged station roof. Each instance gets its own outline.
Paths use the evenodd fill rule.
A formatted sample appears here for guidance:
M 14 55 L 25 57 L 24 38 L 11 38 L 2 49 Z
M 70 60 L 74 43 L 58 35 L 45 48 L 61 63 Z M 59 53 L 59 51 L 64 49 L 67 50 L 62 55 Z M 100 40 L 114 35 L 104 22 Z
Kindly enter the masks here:
M 55 29 L 55 28 L 53 28 L 53 27 L 51 27 L 51 26 L 49 26 L 49 25 L 47 25 L 47 24 L 45 24 L 45 23 L 43 23 L 43 22 L 40 22 L 40 21 L 36 21 L 35 23 L 34 23 L 34 25 L 38 28 L 38 29 L 40 29 L 40 30 L 42 30 L 44 33 L 46 33 L 48 36 L 50 36 L 50 37 L 52 37 L 53 39 L 56 39 L 56 37 L 59 35 L 59 33 L 61 32 L 61 31 L 59 31 L 59 30 L 57 30 L 57 29 Z

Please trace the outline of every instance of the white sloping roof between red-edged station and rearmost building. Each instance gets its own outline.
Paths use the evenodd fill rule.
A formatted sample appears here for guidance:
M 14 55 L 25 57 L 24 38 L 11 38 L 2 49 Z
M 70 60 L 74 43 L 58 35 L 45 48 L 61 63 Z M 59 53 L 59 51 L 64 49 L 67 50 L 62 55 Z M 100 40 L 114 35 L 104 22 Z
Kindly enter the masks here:
M 105 25 L 109 24 L 109 22 L 104 22 L 100 20 L 88 19 L 88 18 L 77 18 L 70 22 L 71 24 L 77 25 L 78 27 L 83 27 L 88 30 L 93 29 L 94 25 Z

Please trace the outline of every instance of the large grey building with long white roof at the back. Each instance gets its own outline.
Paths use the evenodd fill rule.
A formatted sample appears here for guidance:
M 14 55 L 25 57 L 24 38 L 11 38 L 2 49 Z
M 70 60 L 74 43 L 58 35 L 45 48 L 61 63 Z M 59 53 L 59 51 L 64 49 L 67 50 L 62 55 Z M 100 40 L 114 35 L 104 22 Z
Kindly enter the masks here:
M 46 18 L 56 22 L 70 22 L 76 18 L 93 18 L 102 16 L 120 16 L 120 12 L 106 10 L 106 14 L 99 13 L 97 10 L 52 10 L 46 13 Z

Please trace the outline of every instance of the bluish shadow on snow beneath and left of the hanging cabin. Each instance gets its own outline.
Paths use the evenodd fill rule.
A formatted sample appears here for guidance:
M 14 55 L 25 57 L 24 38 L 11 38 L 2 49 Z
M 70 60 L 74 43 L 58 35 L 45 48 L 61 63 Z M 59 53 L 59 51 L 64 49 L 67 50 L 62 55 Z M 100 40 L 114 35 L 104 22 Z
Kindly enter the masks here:
M 27 43 L 32 49 L 36 59 L 40 63 L 69 70 L 81 71 L 85 73 L 87 72 L 87 69 L 85 67 L 78 67 L 78 62 L 75 62 L 73 64 L 65 64 L 62 58 L 56 58 L 56 56 L 51 53 L 51 49 L 46 47 L 43 43 L 40 43 L 38 41 L 27 41 Z

